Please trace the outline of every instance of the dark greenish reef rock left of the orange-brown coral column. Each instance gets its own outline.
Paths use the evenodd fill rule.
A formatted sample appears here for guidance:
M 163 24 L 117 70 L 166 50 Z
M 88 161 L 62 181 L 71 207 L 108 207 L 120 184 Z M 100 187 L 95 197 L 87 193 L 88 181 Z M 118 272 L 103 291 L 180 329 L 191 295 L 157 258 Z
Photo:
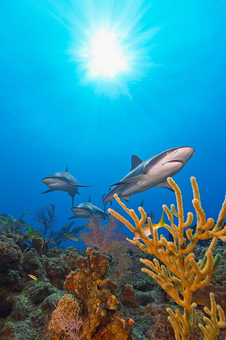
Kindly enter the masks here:
M 21 245 L 21 248 L 20 248 Z M 38 247 L 40 248 L 40 247 Z M 50 339 L 48 323 L 54 303 L 65 294 L 63 283 L 75 270 L 79 256 L 74 247 L 24 248 L 13 238 L 0 236 L 0 339 Z M 52 276 L 54 272 L 55 276 Z M 30 279 L 28 274 L 38 280 Z

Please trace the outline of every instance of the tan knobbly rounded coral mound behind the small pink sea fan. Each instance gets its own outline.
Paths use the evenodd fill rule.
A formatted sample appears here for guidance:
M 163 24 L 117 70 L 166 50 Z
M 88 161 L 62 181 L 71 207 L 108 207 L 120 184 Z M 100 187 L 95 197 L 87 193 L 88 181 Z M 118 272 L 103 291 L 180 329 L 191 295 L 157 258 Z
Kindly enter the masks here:
M 56 308 L 53 311 L 49 329 L 59 333 L 61 330 L 67 329 L 67 325 L 73 321 L 80 308 L 77 300 L 71 294 L 62 296 Z

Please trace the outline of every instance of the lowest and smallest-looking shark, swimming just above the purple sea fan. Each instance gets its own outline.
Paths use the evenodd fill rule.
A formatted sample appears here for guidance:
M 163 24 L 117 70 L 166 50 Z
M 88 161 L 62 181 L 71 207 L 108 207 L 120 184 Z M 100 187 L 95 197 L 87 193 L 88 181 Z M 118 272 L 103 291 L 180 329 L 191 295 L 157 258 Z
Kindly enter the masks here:
M 104 216 L 104 210 L 98 208 L 96 205 L 91 203 L 90 195 L 88 202 L 80 203 L 72 207 L 71 211 L 73 212 L 73 214 L 75 214 L 75 216 L 68 218 L 68 220 L 71 220 L 73 218 L 90 218 L 94 215 L 100 215 L 102 218 L 109 218 L 109 214 L 107 212 Z

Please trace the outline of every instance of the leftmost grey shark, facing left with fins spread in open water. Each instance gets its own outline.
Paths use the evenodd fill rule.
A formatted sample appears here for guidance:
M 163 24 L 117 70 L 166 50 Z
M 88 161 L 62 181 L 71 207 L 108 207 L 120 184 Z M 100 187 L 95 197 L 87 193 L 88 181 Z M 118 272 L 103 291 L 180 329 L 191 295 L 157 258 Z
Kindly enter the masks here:
M 90 187 L 89 185 L 81 185 L 78 184 L 75 177 L 73 177 L 66 167 L 65 171 L 54 172 L 51 175 L 48 175 L 42 179 L 42 183 L 46 184 L 50 189 L 46 190 L 43 193 L 61 190 L 68 192 L 68 195 L 72 198 L 72 206 L 74 204 L 74 198 L 78 192 L 79 187 Z

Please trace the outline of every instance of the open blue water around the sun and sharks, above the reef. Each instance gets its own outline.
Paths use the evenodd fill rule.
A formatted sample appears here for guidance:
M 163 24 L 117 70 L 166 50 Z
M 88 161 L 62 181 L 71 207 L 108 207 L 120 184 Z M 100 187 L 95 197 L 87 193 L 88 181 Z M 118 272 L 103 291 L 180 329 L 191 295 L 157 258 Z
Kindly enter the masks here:
M 55 202 L 60 228 L 72 216 L 71 198 L 40 195 L 44 176 L 68 164 L 79 184 L 94 186 L 80 188 L 75 204 L 90 194 L 103 207 L 102 194 L 128 173 L 132 154 L 145 160 L 189 145 L 196 152 L 174 176 L 185 211 L 193 211 L 195 176 L 206 215 L 216 219 L 226 189 L 225 1 L 56 3 L 1 3 L 0 212 L 18 217 L 23 205 L 28 214 Z M 78 56 L 99 22 L 118 22 L 133 55 L 128 71 L 104 86 L 87 77 Z M 142 196 L 157 214 L 153 222 L 162 204 L 175 203 L 171 191 L 151 188 L 128 207 L 137 209 Z

